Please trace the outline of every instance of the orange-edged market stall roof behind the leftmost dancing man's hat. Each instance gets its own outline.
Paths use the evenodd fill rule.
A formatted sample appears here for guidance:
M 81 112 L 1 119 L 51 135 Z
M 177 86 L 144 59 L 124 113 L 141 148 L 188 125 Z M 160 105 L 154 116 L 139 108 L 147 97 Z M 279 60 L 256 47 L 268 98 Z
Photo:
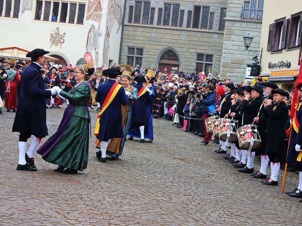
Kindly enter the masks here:
M 0 58 L 14 58 L 18 60 L 31 60 L 31 58 L 26 57 L 26 54 L 30 52 L 29 50 L 26 49 L 21 49 L 19 47 L 8 47 L 8 48 L 0 48 Z M 59 61 L 58 58 L 51 57 L 48 55 L 45 55 L 46 59 L 49 61 Z

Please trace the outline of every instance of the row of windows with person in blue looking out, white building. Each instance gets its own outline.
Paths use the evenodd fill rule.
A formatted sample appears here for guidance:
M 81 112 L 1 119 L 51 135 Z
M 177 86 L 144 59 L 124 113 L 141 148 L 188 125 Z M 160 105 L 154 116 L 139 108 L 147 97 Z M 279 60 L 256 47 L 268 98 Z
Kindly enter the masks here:
M 52 5 L 53 7 L 51 7 Z M 83 25 L 85 21 L 86 2 L 84 0 L 72 0 L 72 2 L 49 0 L 43 4 L 42 0 L 37 0 L 36 9 L 34 11 L 34 20 L 36 21 L 43 20 L 51 21 L 52 23 Z

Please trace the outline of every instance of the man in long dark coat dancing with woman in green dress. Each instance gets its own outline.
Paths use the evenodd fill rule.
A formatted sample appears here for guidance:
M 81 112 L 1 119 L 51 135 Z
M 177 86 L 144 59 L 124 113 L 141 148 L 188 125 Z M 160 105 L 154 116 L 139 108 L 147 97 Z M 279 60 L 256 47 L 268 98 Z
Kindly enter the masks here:
M 56 94 L 55 89 L 44 89 L 40 69 L 45 63 L 43 49 L 34 49 L 27 53 L 32 63 L 24 70 L 21 81 L 21 97 L 13 124 L 13 132 L 19 132 L 19 162 L 17 170 L 36 171 L 34 151 L 41 139 L 48 135 L 46 126 L 45 98 Z M 27 139 L 34 135 L 26 153 Z

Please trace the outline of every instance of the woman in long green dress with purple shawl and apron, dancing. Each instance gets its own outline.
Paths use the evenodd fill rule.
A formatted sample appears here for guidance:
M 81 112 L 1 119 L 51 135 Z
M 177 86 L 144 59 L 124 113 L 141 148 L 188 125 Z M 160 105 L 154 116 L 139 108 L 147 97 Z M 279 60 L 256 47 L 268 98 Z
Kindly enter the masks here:
M 37 150 L 45 161 L 59 165 L 57 172 L 76 174 L 87 168 L 90 123 L 87 103 L 91 100 L 88 67 L 87 64 L 75 67 L 77 84 L 69 93 L 56 88 L 58 94 L 69 100 L 69 105 L 56 133 Z

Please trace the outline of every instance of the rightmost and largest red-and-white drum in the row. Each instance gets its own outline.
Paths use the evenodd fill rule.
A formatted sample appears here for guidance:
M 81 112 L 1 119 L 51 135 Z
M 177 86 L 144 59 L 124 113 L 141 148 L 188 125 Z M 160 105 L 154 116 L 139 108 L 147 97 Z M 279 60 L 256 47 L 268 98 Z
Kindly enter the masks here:
M 238 128 L 239 147 L 243 150 L 252 150 L 261 146 L 261 138 L 257 126 L 253 124 Z

